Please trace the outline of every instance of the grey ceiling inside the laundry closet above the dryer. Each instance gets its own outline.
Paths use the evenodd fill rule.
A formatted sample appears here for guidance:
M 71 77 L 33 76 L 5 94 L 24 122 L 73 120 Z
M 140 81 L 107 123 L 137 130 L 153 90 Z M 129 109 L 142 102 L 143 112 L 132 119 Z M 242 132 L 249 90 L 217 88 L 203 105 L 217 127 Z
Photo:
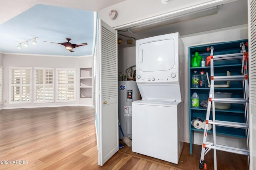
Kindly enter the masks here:
M 234 27 L 248 23 L 247 18 L 247 1 L 237 0 L 227 4 L 220 4 L 216 14 L 208 14 L 207 12 L 198 13 L 198 18 L 179 17 L 171 20 L 162 21 L 160 23 L 146 25 L 142 27 L 130 27 L 130 31 L 123 29 L 118 31 L 118 38 L 122 39 L 122 43 L 118 47 L 129 47 L 135 45 L 135 39 L 143 39 L 156 35 L 179 32 L 181 36 L 201 33 L 204 31 L 212 31 L 226 27 Z M 122 35 L 126 35 L 124 37 Z M 231 35 L 232 36 L 232 35 Z M 128 38 L 130 37 L 130 38 Z M 133 39 L 135 38 L 135 39 Z M 127 44 L 127 40 L 132 39 L 132 45 Z

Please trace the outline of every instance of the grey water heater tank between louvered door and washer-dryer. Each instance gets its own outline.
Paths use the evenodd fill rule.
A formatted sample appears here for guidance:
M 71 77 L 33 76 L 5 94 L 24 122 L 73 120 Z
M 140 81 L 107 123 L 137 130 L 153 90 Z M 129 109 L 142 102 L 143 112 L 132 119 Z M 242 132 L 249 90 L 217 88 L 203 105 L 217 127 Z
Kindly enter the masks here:
M 125 137 L 132 139 L 132 102 L 139 100 L 136 81 L 118 81 L 118 113 L 119 122 Z M 122 139 L 119 130 L 119 139 Z

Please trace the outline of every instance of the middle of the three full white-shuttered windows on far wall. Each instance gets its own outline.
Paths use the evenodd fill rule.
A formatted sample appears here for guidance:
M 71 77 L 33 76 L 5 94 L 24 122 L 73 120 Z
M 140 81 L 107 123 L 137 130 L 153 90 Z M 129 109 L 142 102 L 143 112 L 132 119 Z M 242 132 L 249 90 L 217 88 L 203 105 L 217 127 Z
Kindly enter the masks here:
M 54 68 L 34 68 L 34 102 L 54 102 Z

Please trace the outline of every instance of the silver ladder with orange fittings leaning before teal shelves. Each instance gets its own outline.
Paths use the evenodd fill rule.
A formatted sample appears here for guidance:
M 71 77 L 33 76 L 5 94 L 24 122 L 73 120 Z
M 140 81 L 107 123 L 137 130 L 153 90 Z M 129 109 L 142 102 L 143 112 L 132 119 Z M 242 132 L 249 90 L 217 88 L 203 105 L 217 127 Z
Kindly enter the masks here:
M 211 85 L 210 85 L 210 92 L 208 98 L 208 106 L 206 111 L 206 123 L 204 128 L 204 137 L 202 143 L 202 150 L 201 150 L 201 158 L 200 158 L 200 169 L 206 170 L 206 162 L 204 161 L 204 155 L 207 154 L 208 151 L 214 149 L 214 170 L 217 170 L 217 156 L 216 150 L 222 150 L 225 152 L 231 152 L 236 154 L 242 154 L 248 156 L 249 161 L 249 120 L 248 120 L 248 95 L 249 95 L 249 88 L 248 88 L 248 68 L 247 68 L 247 58 L 248 53 L 245 50 L 244 43 L 240 44 L 241 53 L 235 54 L 228 54 L 228 55 L 213 55 L 213 47 L 210 47 L 211 54 L 210 54 L 210 75 L 211 75 Z M 208 49 L 209 50 L 209 49 Z M 214 61 L 220 60 L 241 60 L 242 63 L 242 75 L 237 76 L 214 76 Z M 244 90 L 244 98 L 215 98 L 214 97 L 214 81 L 241 81 L 243 82 L 243 90 Z M 216 87 L 215 87 L 216 88 Z M 220 121 L 215 119 L 215 102 L 216 103 L 229 103 L 229 104 L 243 104 L 244 105 L 244 123 L 238 122 L 231 122 L 231 121 Z M 211 112 L 211 105 L 212 105 L 212 120 L 210 118 Z M 208 133 L 208 125 L 212 124 L 212 131 L 213 131 L 213 143 L 207 142 L 207 133 Z M 218 145 L 216 144 L 216 126 L 223 126 L 223 127 L 233 127 L 233 128 L 240 128 L 246 129 L 246 141 L 247 141 L 247 148 L 234 148 L 230 146 Z

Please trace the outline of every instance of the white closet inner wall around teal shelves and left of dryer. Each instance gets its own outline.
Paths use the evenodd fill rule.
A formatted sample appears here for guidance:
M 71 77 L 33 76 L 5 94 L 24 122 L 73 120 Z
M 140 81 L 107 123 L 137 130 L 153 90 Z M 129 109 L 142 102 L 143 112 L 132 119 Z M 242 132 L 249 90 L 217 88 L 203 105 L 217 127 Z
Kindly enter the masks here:
M 182 37 L 182 41 L 184 43 L 184 80 L 185 84 L 188 84 L 188 47 L 191 45 L 201 44 L 201 43 L 213 43 L 218 41 L 236 41 L 240 39 L 248 39 L 248 27 L 247 25 L 239 25 L 236 27 L 228 27 L 225 29 L 217 29 L 197 34 L 184 35 Z M 118 70 L 126 70 L 131 65 L 135 64 L 135 47 L 126 47 L 119 48 L 118 62 L 120 63 L 120 68 Z M 188 115 L 188 100 L 190 96 L 188 96 L 188 87 L 185 86 L 185 98 L 184 98 L 184 125 L 185 125 L 185 134 L 184 141 L 189 143 L 189 126 L 190 121 Z M 220 137 L 218 140 L 221 143 L 225 143 L 226 138 Z M 202 133 L 194 133 L 194 143 L 198 145 L 202 145 Z M 241 145 L 240 140 L 232 139 L 230 140 L 231 145 Z

